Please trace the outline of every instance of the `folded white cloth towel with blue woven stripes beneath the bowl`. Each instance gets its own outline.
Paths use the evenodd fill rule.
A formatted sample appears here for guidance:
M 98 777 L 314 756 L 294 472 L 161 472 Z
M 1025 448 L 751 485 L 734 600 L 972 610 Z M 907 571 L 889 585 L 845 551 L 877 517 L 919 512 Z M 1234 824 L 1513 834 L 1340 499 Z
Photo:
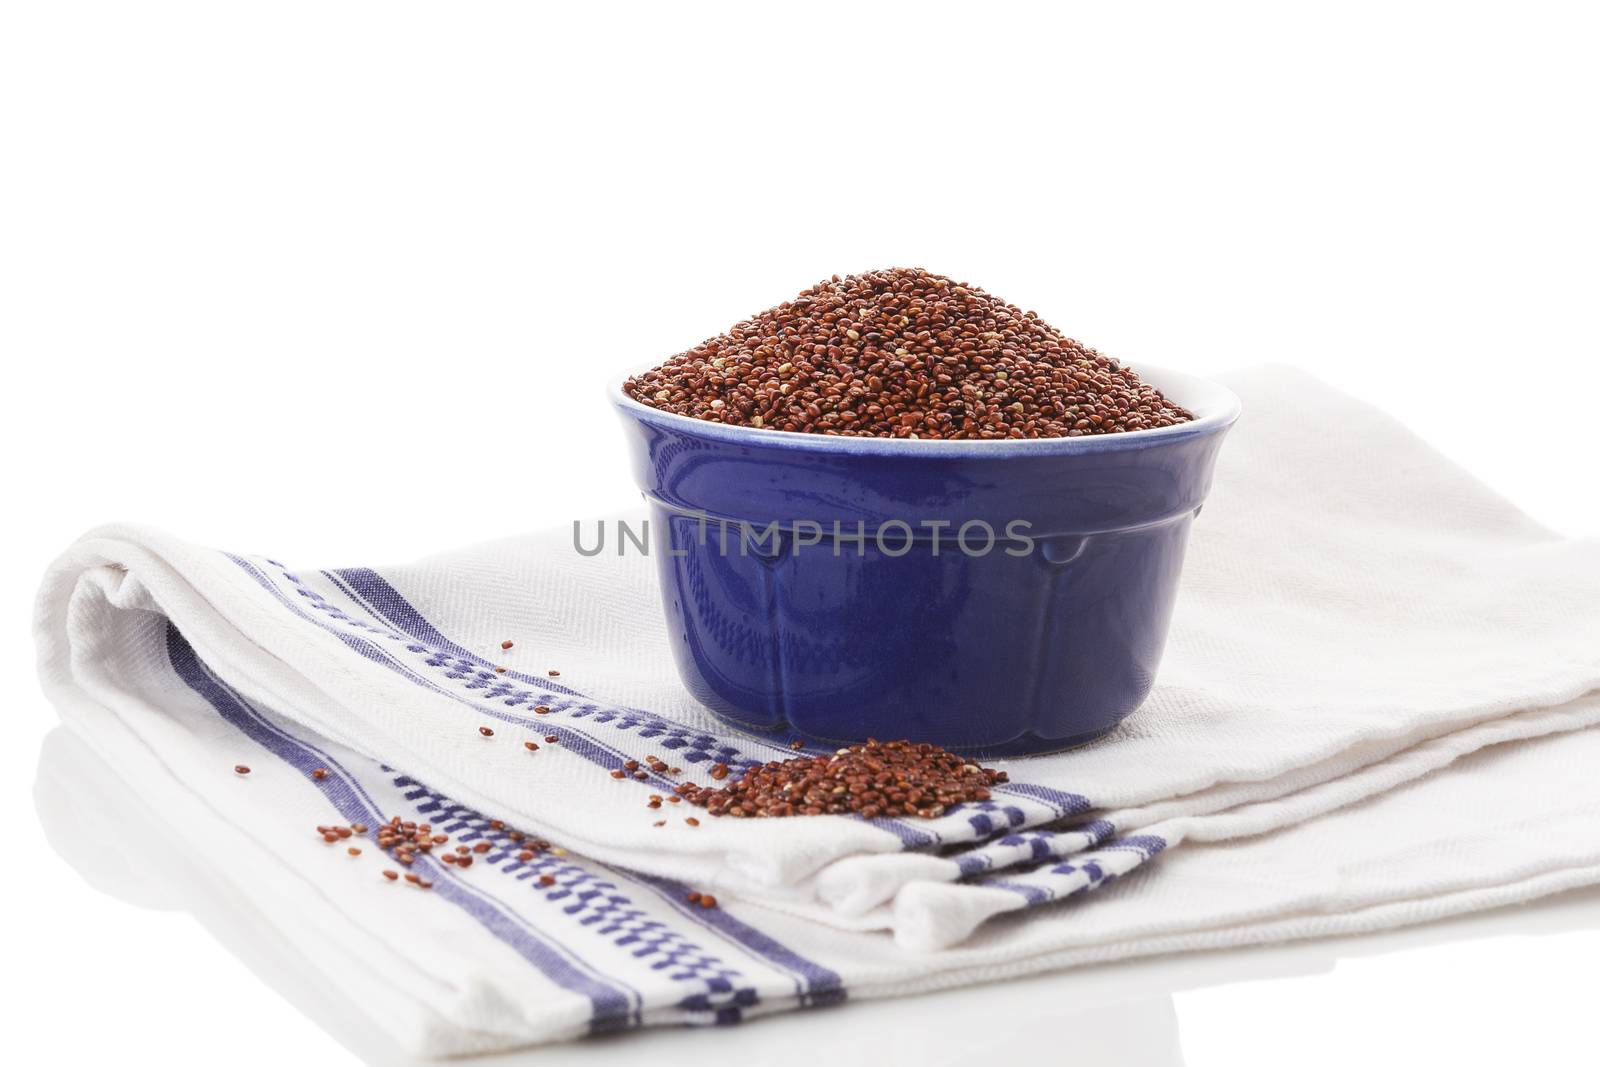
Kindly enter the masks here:
M 936 821 L 648 808 L 680 779 L 613 779 L 624 760 L 709 784 L 714 761 L 792 753 L 690 704 L 651 563 L 582 557 L 571 530 L 381 571 L 99 530 L 45 581 L 42 672 L 307 966 L 437 1053 L 1600 881 L 1600 545 L 1307 378 L 1232 384 L 1245 418 L 1155 694 L 1088 749 L 1005 761 L 1013 785 Z M 355 838 L 314 832 L 395 816 L 450 835 L 440 849 L 488 848 L 470 869 L 419 859 L 421 891 L 381 877 L 397 865 L 373 840 L 347 856 Z M 557 848 L 523 859 L 512 832 Z

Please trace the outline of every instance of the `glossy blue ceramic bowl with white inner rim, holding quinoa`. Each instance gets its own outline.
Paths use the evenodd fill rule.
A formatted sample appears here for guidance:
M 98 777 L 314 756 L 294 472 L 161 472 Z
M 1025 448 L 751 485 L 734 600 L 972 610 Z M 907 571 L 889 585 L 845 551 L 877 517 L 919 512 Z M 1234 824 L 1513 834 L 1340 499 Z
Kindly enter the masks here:
M 1109 731 L 1155 680 L 1189 525 L 1238 418 L 1221 386 L 1139 373 L 1195 419 L 848 438 L 667 414 L 618 382 L 685 685 L 736 726 L 814 744 L 1019 755 Z

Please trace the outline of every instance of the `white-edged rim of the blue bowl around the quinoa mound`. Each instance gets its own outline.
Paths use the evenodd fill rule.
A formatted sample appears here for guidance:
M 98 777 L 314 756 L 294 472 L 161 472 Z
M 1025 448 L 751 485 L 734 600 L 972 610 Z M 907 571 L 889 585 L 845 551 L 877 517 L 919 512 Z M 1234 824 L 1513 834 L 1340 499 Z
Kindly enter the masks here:
M 803 434 L 798 430 L 768 430 L 754 426 L 730 426 L 726 422 L 707 422 L 686 414 L 674 414 L 651 408 L 627 395 L 622 384 L 650 368 L 624 373 L 610 384 L 611 403 L 619 413 L 651 422 L 677 434 L 693 434 L 730 445 L 794 448 L 800 451 L 819 453 L 853 453 L 862 456 L 918 456 L 918 458 L 957 458 L 984 456 L 998 458 L 1018 456 L 1058 456 L 1058 454 L 1093 454 L 1109 451 L 1125 451 L 1134 448 L 1152 448 L 1173 445 L 1179 440 L 1218 434 L 1238 419 L 1242 410 L 1238 395 L 1210 378 L 1174 371 L 1154 363 L 1141 363 L 1133 368 L 1141 379 L 1155 386 L 1163 395 L 1181 403 L 1194 413 L 1189 422 L 1178 426 L 1157 426 L 1147 430 L 1128 430 L 1126 434 L 1090 434 L 1085 437 L 1037 437 L 1037 438 L 981 438 L 981 440 L 942 440 L 942 438 L 904 438 L 904 437 L 830 437 L 827 434 Z

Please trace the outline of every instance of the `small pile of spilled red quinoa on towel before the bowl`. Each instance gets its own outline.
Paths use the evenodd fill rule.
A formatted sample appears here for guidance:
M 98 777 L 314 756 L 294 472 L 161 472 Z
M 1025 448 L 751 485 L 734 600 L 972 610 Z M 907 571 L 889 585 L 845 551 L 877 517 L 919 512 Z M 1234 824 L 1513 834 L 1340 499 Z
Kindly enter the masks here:
M 712 777 L 726 777 L 726 766 L 717 768 Z M 683 782 L 674 792 L 714 816 L 934 819 L 952 805 L 989 800 L 989 787 L 1005 781 L 1005 771 L 970 763 L 939 745 L 867 741 L 830 755 L 757 763 L 720 789 Z

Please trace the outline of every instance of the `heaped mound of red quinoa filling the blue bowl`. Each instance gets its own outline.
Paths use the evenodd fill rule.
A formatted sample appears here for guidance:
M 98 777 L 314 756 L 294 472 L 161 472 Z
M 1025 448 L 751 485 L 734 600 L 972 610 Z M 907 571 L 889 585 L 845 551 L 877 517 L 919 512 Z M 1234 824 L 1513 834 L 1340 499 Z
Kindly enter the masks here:
M 622 389 L 693 419 L 838 437 L 1085 437 L 1194 418 L 1034 312 L 915 267 L 834 275 Z

